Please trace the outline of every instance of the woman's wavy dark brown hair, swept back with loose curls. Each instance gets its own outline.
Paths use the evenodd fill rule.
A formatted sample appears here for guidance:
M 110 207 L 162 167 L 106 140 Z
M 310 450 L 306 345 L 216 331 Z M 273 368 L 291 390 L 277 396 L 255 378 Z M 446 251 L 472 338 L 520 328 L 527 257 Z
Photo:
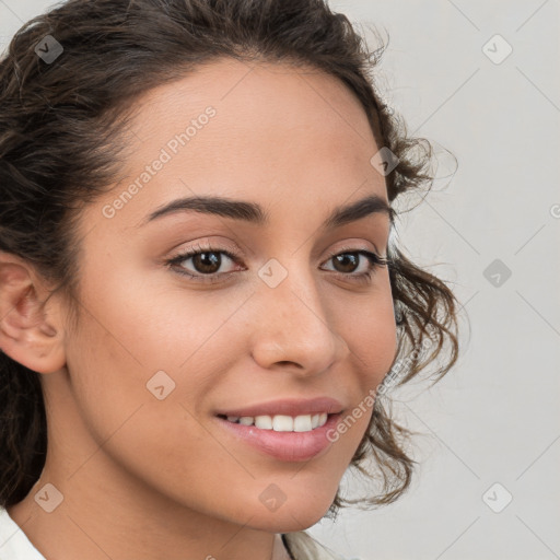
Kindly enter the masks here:
M 80 211 L 119 179 L 127 118 L 135 100 L 222 58 L 287 62 L 341 80 L 360 101 L 378 147 L 397 158 L 385 176 L 397 199 L 431 188 L 433 149 L 411 138 L 383 102 L 374 70 L 386 49 L 370 49 L 348 18 L 325 0 L 70 0 L 24 24 L 0 59 L 0 249 L 36 267 L 79 316 Z M 35 51 L 51 35 L 63 52 L 51 63 Z M 392 226 L 398 212 L 392 214 Z M 457 300 L 396 244 L 387 253 L 397 317 L 397 352 L 382 387 L 401 385 L 440 362 L 456 362 Z M 390 383 L 387 385 L 387 381 Z M 370 506 L 396 500 L 410 485 L 410 432 L 377 392 L 350 467 L 376 480 Z M 21 501 L 47 452 L 39 374 L 0 352 L 0 505 Z M 365 468 L 374 459 L 373 470 Z M 340 488 L 327 512 L 357 501 Z

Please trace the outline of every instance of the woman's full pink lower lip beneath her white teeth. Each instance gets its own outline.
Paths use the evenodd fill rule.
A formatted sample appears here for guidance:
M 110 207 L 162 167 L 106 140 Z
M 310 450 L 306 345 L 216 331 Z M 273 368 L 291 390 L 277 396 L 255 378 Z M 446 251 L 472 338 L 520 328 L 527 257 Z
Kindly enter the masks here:
M 331 442 L 329 430 L 336 429 L 340 413 L 328 415 L 324 425 L 310 432 L 275 432 L 256 425 L 243 425 L 215 417 L 221 425 L 235 438 L 247 442 L 260 452 L 285 462 L 310 460 L 326 450 Z

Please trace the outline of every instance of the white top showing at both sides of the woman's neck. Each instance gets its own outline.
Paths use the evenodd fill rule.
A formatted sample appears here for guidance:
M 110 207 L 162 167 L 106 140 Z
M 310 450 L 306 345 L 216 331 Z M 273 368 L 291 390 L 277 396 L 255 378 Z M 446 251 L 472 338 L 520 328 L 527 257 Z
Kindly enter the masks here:
M 284 539 L 295 560 L 345 560 L 303 530 L 288 533 Z M 3 508 L 0 508 L 0 560 L 46 560 Z

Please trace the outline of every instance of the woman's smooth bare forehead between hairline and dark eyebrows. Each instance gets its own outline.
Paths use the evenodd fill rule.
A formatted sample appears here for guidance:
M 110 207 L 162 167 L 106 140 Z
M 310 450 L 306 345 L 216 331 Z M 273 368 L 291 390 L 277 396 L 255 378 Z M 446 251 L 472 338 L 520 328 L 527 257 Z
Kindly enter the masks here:
M 386 199 L 370 163 L 378 148 L 365 112 L 317 69 L 214 61 L 148 92 L 135 115 L 126 178 L 108 198 L 140 185 L 163 152 L 166 161 L 119 210 L 122 222 L 186 195 L 253 199 L 279 211 L 296 202 L 304 212 L 325 200 L 323 213 L 366 194 Z

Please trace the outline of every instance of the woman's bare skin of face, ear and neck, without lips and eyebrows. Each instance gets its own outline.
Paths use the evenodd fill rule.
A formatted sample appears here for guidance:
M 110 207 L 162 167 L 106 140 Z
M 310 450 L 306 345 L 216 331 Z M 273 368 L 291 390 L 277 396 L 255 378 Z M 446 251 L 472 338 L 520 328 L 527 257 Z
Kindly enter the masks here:
M 349 412 L 395 358 L 387 267 L 366 284 L 337 276 L 329 258 L 347 247 L 385 256 L 388 217 L 319 229 L 335 207 L 387 200 L 370 164 L 380 147 L 342 83 L 301 72 L 221 60 L 142 97 L 127 179 L 81 218 L 78 329 L 67 302 L 45 303 L 48 285 L 28 262 L 1 254 L 1 348 L 42 374 L 49 440 L 40 479 L 9 513 L 47 558 L 279 560 L 279 534 L 310 527 L 331 504 L 371 407 L 304 463 L 234 440 L 213 416 L 323 395 Z M 106 218 L 104 205 L 209 105 L 208 125 Z M 188 211 L 137 226 L 195 194 L 258 202 L 270 223 Z M 205 241 L 236 253 L 238 264 L 222 254 L 214 275 L 232 278 L 205 284 L 165 266 Z M 273 289 L 257 275 L 270 258 L 288 271 Z M 194 259 L 183 267 L 201 273 Z M 368 267 L 360 257 L 357 271 L 338 270 Z M 176 384 L 163 400 L 145 386 L 160 370 Z M 47 482 L 63 495 L 51 513 L 35 501 Z M 276 511 L 259 500 L 271 483 L 285 495 Z

